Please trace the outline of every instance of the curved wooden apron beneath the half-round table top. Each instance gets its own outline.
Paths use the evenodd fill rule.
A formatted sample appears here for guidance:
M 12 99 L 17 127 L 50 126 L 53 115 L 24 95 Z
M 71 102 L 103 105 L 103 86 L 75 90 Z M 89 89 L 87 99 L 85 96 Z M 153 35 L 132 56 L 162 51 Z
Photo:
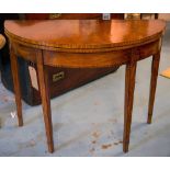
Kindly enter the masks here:
M 67 53 L 29 47 L 11 41 L 11 45 L 18 57 L 36 63 L 36 56 L 42 50 L 44 65 L 68 68 L 101 68 L 121 66 L 131 60 L 138 61 L 160 50 L 161 38 L 155 42 L 128 49 L 120 49 L 101 53 Z

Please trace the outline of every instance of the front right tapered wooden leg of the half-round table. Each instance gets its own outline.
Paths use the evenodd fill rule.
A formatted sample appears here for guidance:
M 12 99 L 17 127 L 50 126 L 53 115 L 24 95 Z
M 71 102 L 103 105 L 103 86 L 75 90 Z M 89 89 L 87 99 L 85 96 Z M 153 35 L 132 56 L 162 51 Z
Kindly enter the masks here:
M 136 61 L 126 65 L 123 151 L 128 151 L 135 89 Z

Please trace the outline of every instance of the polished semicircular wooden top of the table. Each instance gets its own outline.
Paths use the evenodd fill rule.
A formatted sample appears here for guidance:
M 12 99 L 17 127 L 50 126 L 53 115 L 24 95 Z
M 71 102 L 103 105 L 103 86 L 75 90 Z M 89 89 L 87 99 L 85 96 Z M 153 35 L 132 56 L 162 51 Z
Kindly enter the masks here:
M 161 20 L 44 20 L 5 21 L 13 39 L 50 48 L 113 48 L 139 45 L 166 27 Z

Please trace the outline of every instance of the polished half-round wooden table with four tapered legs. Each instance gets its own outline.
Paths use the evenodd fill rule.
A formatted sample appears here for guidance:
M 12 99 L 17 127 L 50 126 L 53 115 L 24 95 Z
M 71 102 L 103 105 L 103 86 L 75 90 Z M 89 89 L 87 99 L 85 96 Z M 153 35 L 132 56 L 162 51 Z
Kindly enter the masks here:
M 19 126 L 23 125 L 23 117 L 16 56 L 37 65 L 49 152 L 54 151 L 54 141 L 46 66 L 102 68 L 126 65 L 123 150 L 128 151 L 137 61 L 152 56 L 147 120 L 150 124 L 165 27 L 166 23 L 160 20 L 5 21 Z

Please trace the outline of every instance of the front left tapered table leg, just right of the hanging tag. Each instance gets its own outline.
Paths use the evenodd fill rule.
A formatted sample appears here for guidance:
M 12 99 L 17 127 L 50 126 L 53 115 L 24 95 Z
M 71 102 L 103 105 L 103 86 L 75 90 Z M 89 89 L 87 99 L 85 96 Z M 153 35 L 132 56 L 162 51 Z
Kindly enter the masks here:
M 50 98 L 49 98 L 49 89 L 48 89 L 48 73 L 47 73 L 46 67 L 44 66 L 42 50 L 37 53 L 36 64 L 37 64 L 38 84 L 39 84 L 39 90 L 42 95 L 42 105 L 43 105 L 48 151 L 53 152 L 54 141 L 53 141 Z

